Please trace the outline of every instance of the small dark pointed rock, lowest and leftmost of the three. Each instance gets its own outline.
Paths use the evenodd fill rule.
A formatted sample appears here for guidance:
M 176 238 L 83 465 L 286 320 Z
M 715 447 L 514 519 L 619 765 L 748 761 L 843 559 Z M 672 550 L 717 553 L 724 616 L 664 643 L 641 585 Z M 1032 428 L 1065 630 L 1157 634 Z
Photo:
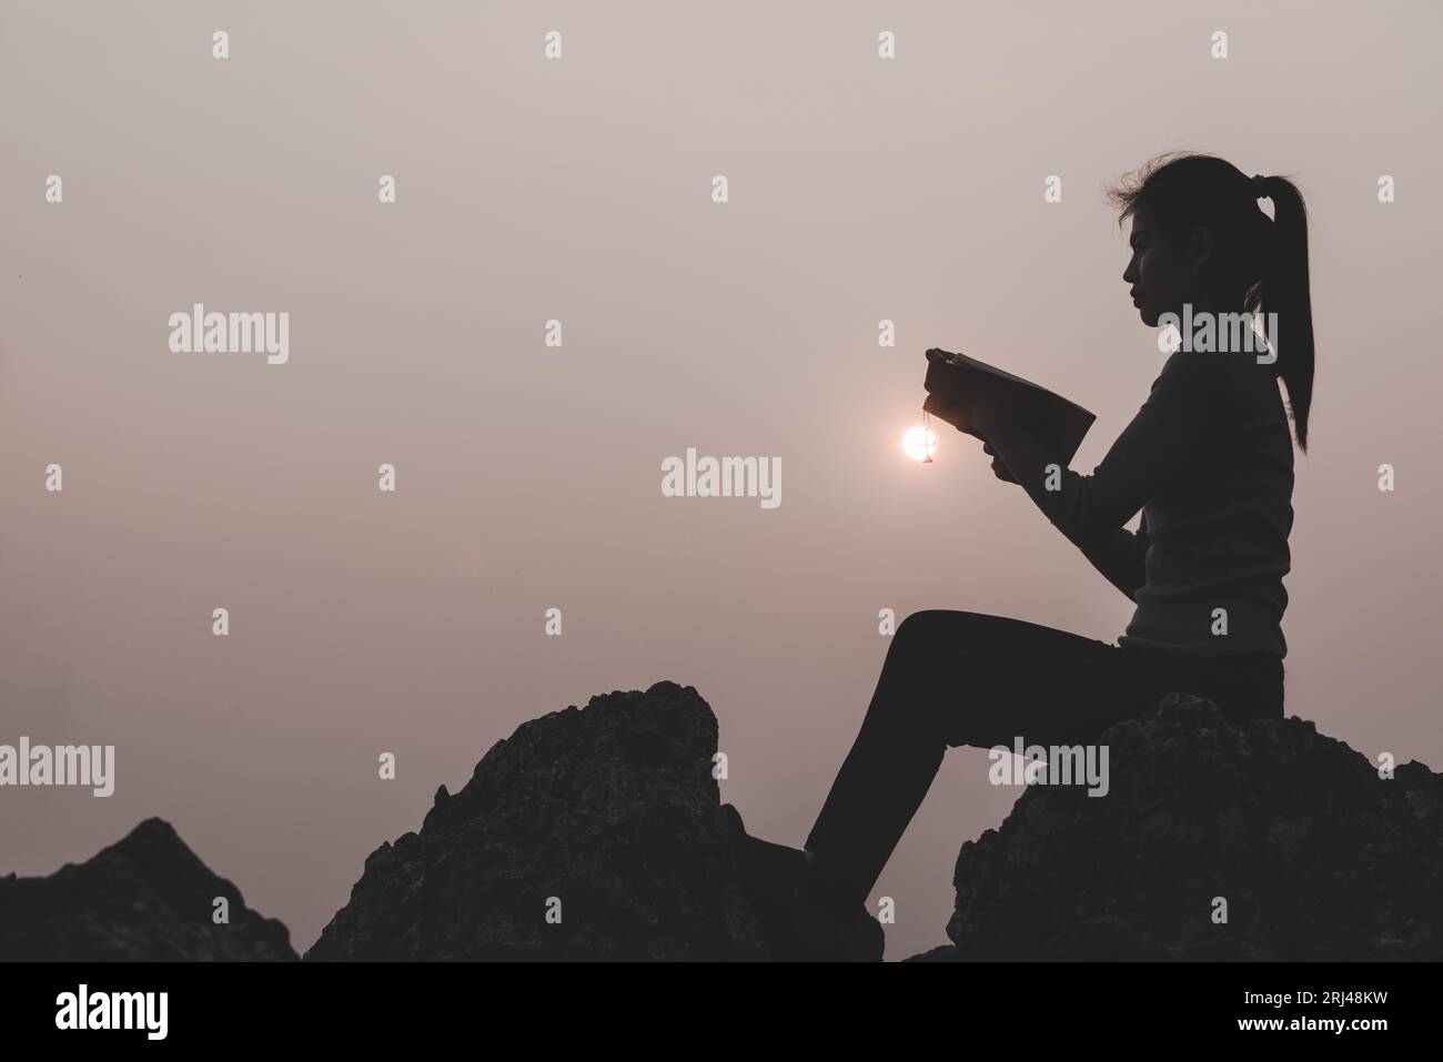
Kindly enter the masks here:
M 212 919 L 218 896 L 227 925 Z M 286 926 L 247 908 L 160 818 L 49 877 L 0 877 L 0 961 L 296 958 Z

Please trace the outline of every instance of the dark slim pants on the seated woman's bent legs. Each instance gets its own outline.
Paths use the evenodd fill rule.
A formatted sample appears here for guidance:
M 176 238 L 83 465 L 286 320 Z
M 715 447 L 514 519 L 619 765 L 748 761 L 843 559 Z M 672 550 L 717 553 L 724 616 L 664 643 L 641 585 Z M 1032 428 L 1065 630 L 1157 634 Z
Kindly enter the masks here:
M 872 706 L 807 838 L 827 895 L 866 903 L 951 746 L 1085 745 L 1190 693 L 1229 719 L 1283 717 L 1276 654 L 1121 648 L 1003 616 L 932 609 L 892 635 Z

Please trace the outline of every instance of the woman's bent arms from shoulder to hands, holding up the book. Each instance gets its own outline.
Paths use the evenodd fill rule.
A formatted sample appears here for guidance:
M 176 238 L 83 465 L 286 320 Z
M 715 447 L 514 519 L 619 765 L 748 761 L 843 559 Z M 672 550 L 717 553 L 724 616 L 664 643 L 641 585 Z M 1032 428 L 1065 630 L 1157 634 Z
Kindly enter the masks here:
M 1092 475 L 1062 468 L 1052 447 L 1016 421 L 978 407 L 973 411 L 973 434 L 986 439 L 1038 508 L 1075 545 L 1097 563 L 1108 558 L 1104 574 L 1124 593 L 1133 582 L 1139 553 L 1136 538 L 1128 545 L 1117 535 L 1147 502 L 1159 485 L 1175 476 L 1202 447 L 1208 446 L 1218 374 L 1209 358 L 1228 355 L 1173 354 L 1153 382 L 1152 394 L 1107 452 Z M 1131 532 L 1126 532 L 1131 537 Z M 1124 574 L 1120 558 L 1127 560 Z M 1141 545 L 1146 553 L 1146 545 Z M 1100 567 L 1101 570 L 1101 567 Z M 1140 583 L 1139 583 L 1140 584 Z M 1136 590 L 1136 586 L 1133 586 Z

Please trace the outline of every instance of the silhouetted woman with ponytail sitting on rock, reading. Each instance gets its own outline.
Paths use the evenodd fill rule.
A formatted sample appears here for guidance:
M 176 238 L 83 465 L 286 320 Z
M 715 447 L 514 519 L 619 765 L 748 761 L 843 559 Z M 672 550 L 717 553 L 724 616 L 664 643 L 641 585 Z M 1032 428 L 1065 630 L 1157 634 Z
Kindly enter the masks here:
M 1302 195 L 1284 177 L 1170 154 L 1111 201 L 1118 224 L 1131 221 L 1123 280 L 1144 325 L 1183 319 L 1185 306 L 1195 329 L 1276 313 L 1273 349 L 1218 351 L 1221 328 L 1202 352 L 1203 333 L 1185 335 L 1102 463 L 1089 476 L 1068 469 L 1061 483 L 1053 475 L 1053 489 L 1045 442 L 987 407 L 973 411 L 970 434 L 997 476 L 1019 483 L 1136 612 L 1115 645 L 971 612 L 916 612 L 898 626 L 807 838 L 792 928 L 814 958 L 847 957 L 947 747 L 1087 743 L 1170 691 L 1208 697 L 1231 719 L 1283 714 L 1293 440 L 1277 381 L 1304 452 L 1313 390 Z M 1133 532 L 1124 524 L 1139 511 Z

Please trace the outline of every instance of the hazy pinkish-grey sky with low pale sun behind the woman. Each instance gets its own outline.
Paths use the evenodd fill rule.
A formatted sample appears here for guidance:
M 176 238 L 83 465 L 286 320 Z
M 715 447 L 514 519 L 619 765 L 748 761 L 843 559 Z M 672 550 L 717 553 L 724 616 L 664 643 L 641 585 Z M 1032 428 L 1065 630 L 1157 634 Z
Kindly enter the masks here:
M 6 0 L 0 743 L 118 762 L 0 789 L 0 873 L 162 815 L 304 949 L 517 724 L 661 678 L 799 846 L 879 609 L 1126 626 L 975 440 L 899 442 L 945 346 L 1094 410 L 1091 472 L 1160 368 L 1102 188 L 1175 147 L 1312 211 L 1287 710 L 1437 766 L 1443 16 L 1186 7 Z M 289 313 L 289 361 L 173 354 L 196 302 Z M 664 498 L 687 447 L 779 457 L 781 505 Z M 987 766 L 948 753 L 883 873 L 889 958 L 945 942 Z

